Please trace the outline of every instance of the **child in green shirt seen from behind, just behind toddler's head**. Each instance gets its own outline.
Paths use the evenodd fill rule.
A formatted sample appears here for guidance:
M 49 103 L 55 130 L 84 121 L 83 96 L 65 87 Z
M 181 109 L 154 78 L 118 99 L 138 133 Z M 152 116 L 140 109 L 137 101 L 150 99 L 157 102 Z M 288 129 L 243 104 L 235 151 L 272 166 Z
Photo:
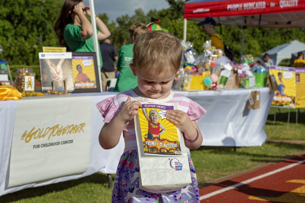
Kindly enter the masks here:
M 137 77 L 133 75 L 129 64 L 132 62 L 132 48 L 135 38 L 148 31 L 148 28 L 142 23 L 135 23 L 129 27 L 132 44 L 127 44 L 120 48 L 117 61 L 117 70 L 120 71 L 120 74 L 113 89 L 114 92 L 124 92 L 138 86 Z

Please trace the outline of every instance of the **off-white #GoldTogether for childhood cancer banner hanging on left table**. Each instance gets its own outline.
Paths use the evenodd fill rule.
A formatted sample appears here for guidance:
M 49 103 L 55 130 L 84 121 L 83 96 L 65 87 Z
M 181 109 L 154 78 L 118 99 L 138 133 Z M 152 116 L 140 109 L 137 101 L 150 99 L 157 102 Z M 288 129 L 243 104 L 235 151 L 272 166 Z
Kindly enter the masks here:
M 17 102 L 8 187 L 86 172 L 89 166 L 91 97 L 34 103 Z

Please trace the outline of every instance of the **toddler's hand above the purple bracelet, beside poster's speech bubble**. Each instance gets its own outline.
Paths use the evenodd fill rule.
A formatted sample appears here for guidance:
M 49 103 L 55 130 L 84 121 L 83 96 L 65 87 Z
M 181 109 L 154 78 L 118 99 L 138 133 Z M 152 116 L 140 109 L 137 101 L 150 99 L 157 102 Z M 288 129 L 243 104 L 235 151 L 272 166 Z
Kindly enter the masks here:
M 176 125 L 182 132 L 188 132 L 194 125 L 188 116 L 188 114 L 184 113 L 181 110 L 170 110 L 167 111 L 165 116 L 166 119 Z

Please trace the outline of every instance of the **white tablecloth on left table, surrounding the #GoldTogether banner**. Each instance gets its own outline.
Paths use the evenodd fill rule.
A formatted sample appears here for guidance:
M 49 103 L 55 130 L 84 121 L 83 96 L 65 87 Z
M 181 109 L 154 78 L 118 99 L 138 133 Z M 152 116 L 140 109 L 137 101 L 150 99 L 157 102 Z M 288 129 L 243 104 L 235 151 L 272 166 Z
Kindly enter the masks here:
M 117 164 L 119 162 L 120 156 L 124 150 L 124 139 L 122 138 L 117 145 L 117 147 L 111 150 L 104 150 L 99 145 L 98 136 L 99 132 L 104 125 L 103 118 L 96 108 L 95 104 L 101 100 L 113 96 L 114 92 L 101 92 L 101 93 L 83 93 L 83 94 L 73 94 L 69 97 L 75 97 L 75 102 L 77 102 L 77 97 L 84 95 L 92 96 L 92 103 L 88 104 L 92 107 L 92 119 L 91 119 L 91 141 L 90 141 L 90 160 L 89 168 L 86 172 L 77 175 L 64 176 L 60 178 L 50 179 L 47 181 L 41 181 L 31 184 L 26 184 L 18 187 L 7 188 L 8 184 L 8 173 L 9 173 L 9 160 L 10 160 L 10 149 L 12 143 L 14 119 L 16 113 L 16 103 L 18 101 L 1 101 L 0 102 L 0 196 L 8 193 L 12 193 L 18 190 L 22 190 L 28 187 L 38 187 L 43 185 L 48 185 L 52 183 L 58 183 L 71 179 L 78 179 L 81 177 L 89 176 L 95 172 L 102 173 L 115 173 L 117 169 Z M 63 100 L 67 96 L 58 96 L 57 98 L 62 98 Z M 33 103 L 29 110 L 35 107 L 35 102 L 40 100 L 51 100 L 52 96 L 44 97 L 27 97 L 22 100 L 33 100 Z M 76 113 L 77 115 L 77 113 Z M 37 115 L 39 117 L 39 115 Z M 26 174 L 25 174 L 26 175 Z

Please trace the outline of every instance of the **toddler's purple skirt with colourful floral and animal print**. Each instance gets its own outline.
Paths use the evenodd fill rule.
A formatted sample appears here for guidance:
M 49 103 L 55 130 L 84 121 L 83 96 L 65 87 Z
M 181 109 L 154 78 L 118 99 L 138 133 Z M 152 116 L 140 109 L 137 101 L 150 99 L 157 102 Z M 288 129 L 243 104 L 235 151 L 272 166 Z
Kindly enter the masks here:
M 112 203 L 121 202 L 154 202 L 154 203 L 199 203 L 199 188 L 196 172 L 191 157 L 188 154 L 188 163 L 192 183 L 181 190 L 155 194 L 139 189 L 139 158 L 138 150 L 124 152 L 117 167 L 114 180 Z

